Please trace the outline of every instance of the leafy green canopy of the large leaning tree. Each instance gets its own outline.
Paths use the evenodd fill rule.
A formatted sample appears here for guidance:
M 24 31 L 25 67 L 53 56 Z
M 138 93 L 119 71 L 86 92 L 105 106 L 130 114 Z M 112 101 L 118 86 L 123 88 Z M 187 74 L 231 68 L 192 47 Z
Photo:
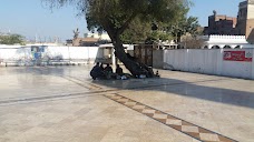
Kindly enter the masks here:
M 42 0 L 50 8 L 74 4 L 90 31 L 107 31 L 113 41 L 170 40 L 197 33 L 197 18 L 187 18 L 190 0 Z M 152 31 L 153 26 L 157 31 Z M 166 31 L 166 32 L 165 32 Z

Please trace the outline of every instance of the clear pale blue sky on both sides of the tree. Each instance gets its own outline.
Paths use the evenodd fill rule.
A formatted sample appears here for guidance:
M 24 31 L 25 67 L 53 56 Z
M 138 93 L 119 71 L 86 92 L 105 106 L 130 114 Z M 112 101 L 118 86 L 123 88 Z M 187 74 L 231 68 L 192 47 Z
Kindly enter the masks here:
M 208 16 L 216 10 L 218 14 L 236 17 L 238 3 L 243 0 L 192 0 L 193 6 L 188 16 L 197 17 L 201 26 L 205 27 Z M 50 10 L 41 0 L 0 0 L 0 32 L 11 32 L 36 37 L 42 41 L 60 38 L 71 39 L 74 30 L 79 28 L 80 37 L 89 32 L 86 20 L 77 16 L 74 6 Z

